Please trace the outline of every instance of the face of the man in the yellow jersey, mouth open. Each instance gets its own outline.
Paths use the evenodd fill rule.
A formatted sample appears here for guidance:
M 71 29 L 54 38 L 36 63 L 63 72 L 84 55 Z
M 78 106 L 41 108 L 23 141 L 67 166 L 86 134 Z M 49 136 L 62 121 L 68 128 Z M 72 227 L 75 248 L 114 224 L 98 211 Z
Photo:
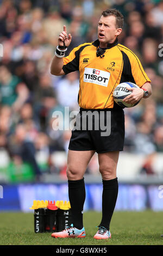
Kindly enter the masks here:
M 106 47 L 108 43 L 114 42 L 117 35 L 121 34 L 121 31 L 121 28 L 116 28 L 115 16 L 101 16 L 98 22 L 98 40 L 100 42 L 99 46 Z

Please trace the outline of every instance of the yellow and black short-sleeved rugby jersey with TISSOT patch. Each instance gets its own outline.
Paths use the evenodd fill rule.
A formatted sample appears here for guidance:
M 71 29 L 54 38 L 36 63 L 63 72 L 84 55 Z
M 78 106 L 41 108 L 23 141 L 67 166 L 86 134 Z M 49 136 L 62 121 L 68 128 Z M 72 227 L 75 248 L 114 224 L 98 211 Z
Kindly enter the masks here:
M 99 41 L 88 42 L 74 48 L 64 58 L 65 74 L 79 70 L 79 106 L 85 109 L 114 108 L 112 93 L 122 82 L 133 82 L 142 87 L 151 82 L 140 60 L 118 40 L 108 44 L 104 57 L 97 57 Z

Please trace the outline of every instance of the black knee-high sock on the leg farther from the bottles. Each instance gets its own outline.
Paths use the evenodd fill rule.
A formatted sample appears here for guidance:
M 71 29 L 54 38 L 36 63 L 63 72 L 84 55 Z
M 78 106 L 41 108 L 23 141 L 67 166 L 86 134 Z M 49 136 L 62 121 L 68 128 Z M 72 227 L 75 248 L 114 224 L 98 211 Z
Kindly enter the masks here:
M 103 180 L 102 221 L 100 225 L 108 230 L 110 229 L 110 221 L 116 205 L 117 196 L 117 178 L 112 180 Z

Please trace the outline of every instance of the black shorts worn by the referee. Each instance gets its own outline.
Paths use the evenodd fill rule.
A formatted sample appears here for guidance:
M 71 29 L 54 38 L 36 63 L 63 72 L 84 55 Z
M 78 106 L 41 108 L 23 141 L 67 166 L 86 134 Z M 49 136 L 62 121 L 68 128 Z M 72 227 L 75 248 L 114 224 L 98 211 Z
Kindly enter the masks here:
M 93 113 L 92 116 L 91 113 Z M 123 109 L 80 108 L 68 149 L 76 151 L 95 150 L 97 153 L 106 153 L 122 151 L 123 145 Z

